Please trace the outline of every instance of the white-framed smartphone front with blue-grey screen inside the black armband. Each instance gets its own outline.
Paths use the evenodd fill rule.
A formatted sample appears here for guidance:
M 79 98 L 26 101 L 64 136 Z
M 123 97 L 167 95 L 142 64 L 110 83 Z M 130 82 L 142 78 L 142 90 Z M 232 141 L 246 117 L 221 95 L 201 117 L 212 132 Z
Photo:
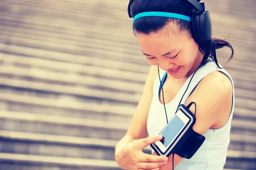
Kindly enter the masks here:
M 188 122 L 189 118 L 179 110 L 160 133 L 160 135 L 163 136 L 163 139 L 161 139 L 160 142 L 167 148 Z

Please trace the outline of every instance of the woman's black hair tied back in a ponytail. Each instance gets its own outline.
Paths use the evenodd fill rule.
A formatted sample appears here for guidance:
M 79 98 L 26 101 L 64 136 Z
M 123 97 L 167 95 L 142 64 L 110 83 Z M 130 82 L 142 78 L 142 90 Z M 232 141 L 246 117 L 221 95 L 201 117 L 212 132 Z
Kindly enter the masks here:
M 172 12 L 190 17 L 192 16 L 193 6 L 186 2 L 186 0 L 134 0 L 134 2 L 131 4 L 132 17 L 139 13 L 148 11 Z M 135 20 L 133 24 L 134 34 L 135 32 L 146 35 L 157 33 L 170 22 L 176 23 L 180 32 L 187 31 L 192 38 L 191 22 L 176 18 L 155 16 L 141 17 Z M 225 46 L 229 47 L 232 51 L 232 54 L 227 62 L 229 62 L 234 55 L 234 49 L 230 42 L 215 37 L 212 37 L 207 42 L 198 44 L 198 46 L 199 50 L 204 54 L 201 62 L 202 65 L 204 65 L 205 62 L 207 62 L 208 57 L 210 57 L 215 61 L 217 66 L 221 68 L 218 65 L 216 49 L 223 48 Z

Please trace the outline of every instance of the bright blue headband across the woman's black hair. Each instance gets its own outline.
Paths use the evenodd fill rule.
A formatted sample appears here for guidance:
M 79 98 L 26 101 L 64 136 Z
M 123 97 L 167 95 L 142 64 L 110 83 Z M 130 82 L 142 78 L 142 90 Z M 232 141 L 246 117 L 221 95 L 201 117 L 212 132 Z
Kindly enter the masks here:
M 191 22 L 191 17 L 181 15 L 181 14 L 175 14 L 175 13 L 169 13 L 169 12 L 142 12 L 140 14 L 137 14 L 134 16 L 133 22 L 141 17 L 149 17 L 149 16 L 156 16 L 156 17 L 170 17 L 170 18 L 177 18 L 180 20 L 186 20 Z

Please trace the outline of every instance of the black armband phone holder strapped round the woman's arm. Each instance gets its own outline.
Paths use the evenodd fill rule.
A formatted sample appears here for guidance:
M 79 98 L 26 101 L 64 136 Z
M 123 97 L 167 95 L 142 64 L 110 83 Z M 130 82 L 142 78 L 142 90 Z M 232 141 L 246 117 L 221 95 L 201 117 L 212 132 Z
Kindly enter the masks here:
M 186 116 L 189 119 L 189 121 L 186 122 L 186 125 L 184 125 L 180 129 L 179 133 L 177 133 L 176 137 L 172 140 L 172 142 L 168 144 L 168 147 L 163 147 L 164 145 L 160 141 L 154 142 L 150 144 L 150 146 L 159 156 L 168 157 L 170 156 L 170 154 L 175 153 L 183 158 L 190 159 L 196 153 L 196 151 L 201 147 L 201 145 L 205 140 L 205 137 L 193 130 L 193 126 L 195 125 L 196 118 L 195 118 L 195 115 L 191 111 L 189 111 L 189 109 L 185 105 L 183 104 L 180 105 L 176 113 L 178 113 L 177 116 L 179 115 L 180 118 L 182 117 L 184 118 L 184 116 Z M 175 116 L 176 116 L 176 113 L 175 113 Z M 188 120 L 187 118 L 186 120 Z M 166 127 L 173 126 L 174 125 L 173 122 L 174 121 L 172 121 L 171 119 L 169 123 L 166 125 Z M 164 127 L 163 130 L 165 130 L 166 127 Z M 163 132 L 163 130 L 160 132 L 160 135 L 162 135 L 161 133 Z M 171 130 L 169 131 L 171 133 Z

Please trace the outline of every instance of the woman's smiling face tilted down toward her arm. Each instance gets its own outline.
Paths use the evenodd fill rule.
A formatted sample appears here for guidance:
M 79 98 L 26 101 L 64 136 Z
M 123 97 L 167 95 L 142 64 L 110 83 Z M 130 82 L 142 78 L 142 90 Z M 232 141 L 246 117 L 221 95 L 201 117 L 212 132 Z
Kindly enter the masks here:
M 170 23 L 158 33 L 136 37 L 148 62 L 159 65 L 175 79 L 189 77 L 201 63 L 203 54 L 198 44 L 186 32 L 180 33 L 175 24 Z

